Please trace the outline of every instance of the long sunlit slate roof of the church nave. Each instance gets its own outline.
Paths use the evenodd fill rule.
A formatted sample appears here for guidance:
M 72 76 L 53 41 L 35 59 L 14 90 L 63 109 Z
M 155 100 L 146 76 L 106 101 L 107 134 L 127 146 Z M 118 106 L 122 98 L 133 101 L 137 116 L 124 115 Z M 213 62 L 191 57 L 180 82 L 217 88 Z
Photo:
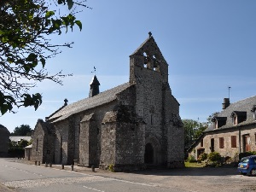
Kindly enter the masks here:
M 117 94 L 131 87 L 131 85 L 132 84 L 130 83 L 121 84 L 111 90 L 105 90 L 96 96 L 85 98 L 83 100 L 80 100 L 79 102 L 73 102 L 72 104 L 69 104 L 64 108 L 61 108 L 61 110 L 57 113 L 53 113 L 53 115 L 49 117 L 49 120 L 57 122 L 63 119 L 67 119 L 74 113 L 79 113 L 90 108 L 95 108 L 105 103 L 112 102 L 117 98 Z

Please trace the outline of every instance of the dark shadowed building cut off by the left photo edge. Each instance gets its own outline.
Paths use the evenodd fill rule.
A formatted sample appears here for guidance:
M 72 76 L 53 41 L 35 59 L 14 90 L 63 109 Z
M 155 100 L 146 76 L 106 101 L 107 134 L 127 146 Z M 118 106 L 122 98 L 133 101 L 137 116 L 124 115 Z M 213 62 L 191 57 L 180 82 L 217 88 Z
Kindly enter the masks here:
M 9 149 L 9 131 L 0 124 L 0 157 L 5 157 Z

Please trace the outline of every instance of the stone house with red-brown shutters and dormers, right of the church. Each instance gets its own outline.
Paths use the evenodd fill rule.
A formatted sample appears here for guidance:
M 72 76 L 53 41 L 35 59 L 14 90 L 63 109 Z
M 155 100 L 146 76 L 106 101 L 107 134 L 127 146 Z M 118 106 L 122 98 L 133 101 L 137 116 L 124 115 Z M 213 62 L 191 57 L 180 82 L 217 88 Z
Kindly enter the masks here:
M 256 96 L 230 103 L 224 98 L 223 111 L 212 118 L 212 124 L 189 148 L 195 158 L 201 153 L 218 152 L 225 158 L 256 151 Z

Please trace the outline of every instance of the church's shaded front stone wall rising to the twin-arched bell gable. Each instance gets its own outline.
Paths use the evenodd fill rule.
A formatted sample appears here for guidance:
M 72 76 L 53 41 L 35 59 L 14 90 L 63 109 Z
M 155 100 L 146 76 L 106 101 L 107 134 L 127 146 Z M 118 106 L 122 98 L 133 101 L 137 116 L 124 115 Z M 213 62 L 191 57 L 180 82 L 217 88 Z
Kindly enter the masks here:
M 130 56 L 130 82 L 137 87 L 136 113 L 146 123 L 143 148 L 153 148 L 155 166 L 183 167 L 179 103 L 168 84 L 168 64 L 151 36 Z

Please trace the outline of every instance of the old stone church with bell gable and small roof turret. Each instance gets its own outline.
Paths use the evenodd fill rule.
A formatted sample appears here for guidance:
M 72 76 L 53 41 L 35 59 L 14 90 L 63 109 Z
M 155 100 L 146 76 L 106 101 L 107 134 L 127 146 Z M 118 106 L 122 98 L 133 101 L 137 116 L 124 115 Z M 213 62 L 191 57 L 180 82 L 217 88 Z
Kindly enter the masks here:
M 183 124 L 168 83 L 168 64 L 153 36 L 130 55 L 130 80 L 38 119 L 32 158 L 43 163 L 113 167 L 116 172 L 148 166 L 183 167 Z

